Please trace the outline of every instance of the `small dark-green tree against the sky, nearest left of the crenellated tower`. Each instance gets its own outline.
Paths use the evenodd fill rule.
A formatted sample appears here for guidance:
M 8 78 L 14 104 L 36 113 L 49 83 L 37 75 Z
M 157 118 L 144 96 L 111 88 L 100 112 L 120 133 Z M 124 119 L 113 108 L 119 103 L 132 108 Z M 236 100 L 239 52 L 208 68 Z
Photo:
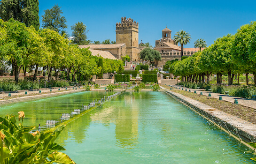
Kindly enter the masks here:
M 72 43 L 76 45 L 86 45 L 86 26 L 83 22 L 77 22 L 75 25 L 71 26 L 72 32 Z

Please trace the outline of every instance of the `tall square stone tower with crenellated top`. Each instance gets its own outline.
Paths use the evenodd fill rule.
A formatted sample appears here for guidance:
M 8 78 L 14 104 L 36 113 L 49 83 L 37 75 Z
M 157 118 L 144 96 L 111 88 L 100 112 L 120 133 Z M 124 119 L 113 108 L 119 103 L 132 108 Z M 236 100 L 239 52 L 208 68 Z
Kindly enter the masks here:
M 116 44 L 125 43 L 126 54 L 132 61 L 138 61 L 139 53 L 139 23 L 126 17 L 116 23 Z

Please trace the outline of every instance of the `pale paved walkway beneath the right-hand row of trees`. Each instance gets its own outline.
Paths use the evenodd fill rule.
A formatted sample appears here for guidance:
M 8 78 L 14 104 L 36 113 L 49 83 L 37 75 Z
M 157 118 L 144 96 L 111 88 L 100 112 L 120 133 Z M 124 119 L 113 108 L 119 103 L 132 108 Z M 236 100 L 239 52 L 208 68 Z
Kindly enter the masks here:
M 256 109 L 256 101 L 255 100 L 250 100 L 250 99 L 246 99 L 246 98 L 242 98 L 242 97 L 233 97 L 233 96 L 227 96 L 225 94 L 220 94 L 220 93 L 213 93 L 213 92 L 210 92 L 210 91 L 205 91 L 204 89 L 191 89 L 191 88 L 186 88 L 186 87 L 181 87 L 181 86 L 178 86 L 178 85 L 172 85 L 173 87 L 178 87 L 180 89 L 178 90 L 181 90 L 183 88 L 183 90 L 185 91 L 187 89 L 187 91 L 190 89 L 191 92 L 194 93 L 194 91 L 196 91 L 196 94 L 200 94 L 200 92 L 202 92 L 202 94 L 204 96 L 208 96 L 209 93 L 211 94 L 211 97 L 214 97 L 214 98 L 219 98 L 220 96 L 222 96 L 222 99 L 227 101 L 227 102 L 231 102 L 231 103 L 234 103 L 235 99 L 238 100 L 238 103 L 240 105 L 243 105 L 243 106 L 247 106 L 247 107 L 250 107 L 250 108 L 253 108 L 253 109 Z M 173 89 L 173 88 L 172 88 Z

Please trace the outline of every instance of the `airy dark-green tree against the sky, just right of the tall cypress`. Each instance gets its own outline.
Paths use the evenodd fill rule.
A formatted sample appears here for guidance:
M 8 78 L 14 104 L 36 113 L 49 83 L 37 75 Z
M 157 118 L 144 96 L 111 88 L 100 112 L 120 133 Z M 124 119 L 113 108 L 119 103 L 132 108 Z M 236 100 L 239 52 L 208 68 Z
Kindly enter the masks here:
M 43 28 L 51 29 L 57 32 L 67 28 L 67 21 L 63 14 L 61 7 L 54 5 L 51 9 L 45 10 L 45 14 L 42 15 Z

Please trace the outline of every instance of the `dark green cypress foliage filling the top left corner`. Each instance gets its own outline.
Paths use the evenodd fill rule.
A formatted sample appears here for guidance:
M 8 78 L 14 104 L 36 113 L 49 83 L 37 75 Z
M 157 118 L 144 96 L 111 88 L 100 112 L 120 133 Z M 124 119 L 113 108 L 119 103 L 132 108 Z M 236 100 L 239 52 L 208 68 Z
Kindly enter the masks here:
M 27 27 L 33 25 L 39 30 L 39 1 L 0 0 L 0 18 L 4 21 L 14 18 L 25 23 Z

